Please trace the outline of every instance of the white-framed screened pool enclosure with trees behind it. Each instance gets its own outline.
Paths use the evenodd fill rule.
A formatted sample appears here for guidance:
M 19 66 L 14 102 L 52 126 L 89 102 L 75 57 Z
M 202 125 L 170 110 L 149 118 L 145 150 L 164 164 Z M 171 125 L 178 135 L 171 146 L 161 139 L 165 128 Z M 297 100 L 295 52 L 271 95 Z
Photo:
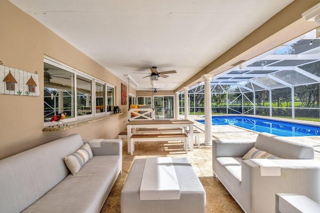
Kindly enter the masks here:
M 252 114 L 320 121 L 320 30 L 314 29 L 216 76 L 212 114 Z M 204 113 L 204 83 L 188 89 L 189 114 Z M 184 92 L 179 94 L 184 113 Z

